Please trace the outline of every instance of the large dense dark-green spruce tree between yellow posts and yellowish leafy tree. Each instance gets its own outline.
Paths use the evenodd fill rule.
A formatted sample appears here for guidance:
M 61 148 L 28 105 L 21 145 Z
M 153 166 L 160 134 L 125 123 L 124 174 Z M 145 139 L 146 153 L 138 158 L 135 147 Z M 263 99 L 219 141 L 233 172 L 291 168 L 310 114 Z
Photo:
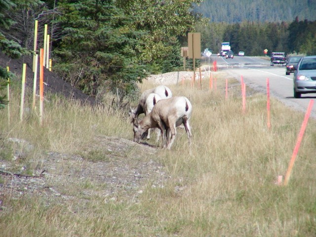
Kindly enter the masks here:
M 146 77 L 137 58 L 145 32 L 132 24 L 138 17 L 125 15 L 112 0 L 61 0 L 58 8 L 63 31 L 55 70 L 68 82 L 92 96 L 104 86 L 118 88 L 122 98 Z

